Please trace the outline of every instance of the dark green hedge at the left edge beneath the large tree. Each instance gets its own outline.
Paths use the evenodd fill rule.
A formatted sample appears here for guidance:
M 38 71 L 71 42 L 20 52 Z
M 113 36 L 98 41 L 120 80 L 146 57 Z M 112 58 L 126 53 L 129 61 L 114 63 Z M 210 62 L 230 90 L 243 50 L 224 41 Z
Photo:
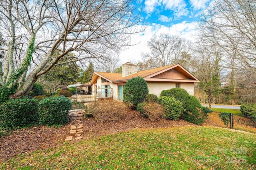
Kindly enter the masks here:
M 0 106 L 0 126 L 15 129 L 38 121 L 38 99 L 23 97 L 8 100 Z

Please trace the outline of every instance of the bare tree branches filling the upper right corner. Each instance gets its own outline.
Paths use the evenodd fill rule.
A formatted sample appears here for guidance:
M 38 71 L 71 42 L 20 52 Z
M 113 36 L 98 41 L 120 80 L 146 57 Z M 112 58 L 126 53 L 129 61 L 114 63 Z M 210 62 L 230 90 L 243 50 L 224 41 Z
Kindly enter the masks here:
M 256 74 L 255 14 L 256 2 L 252 0 L 214 0 L 202 14 L 202 45 L 220 48 L 223 67 Z

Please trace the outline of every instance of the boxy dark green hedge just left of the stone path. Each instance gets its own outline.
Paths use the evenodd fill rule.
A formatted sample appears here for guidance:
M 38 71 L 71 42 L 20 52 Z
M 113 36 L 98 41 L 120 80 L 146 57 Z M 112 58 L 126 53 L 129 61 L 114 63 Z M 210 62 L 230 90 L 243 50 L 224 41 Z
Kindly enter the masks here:
M 48 97 L 38 104 L 39 123 L 43 125 L 64 125 L 69 121 L 72 107 L 70 99 L 62 96 Z

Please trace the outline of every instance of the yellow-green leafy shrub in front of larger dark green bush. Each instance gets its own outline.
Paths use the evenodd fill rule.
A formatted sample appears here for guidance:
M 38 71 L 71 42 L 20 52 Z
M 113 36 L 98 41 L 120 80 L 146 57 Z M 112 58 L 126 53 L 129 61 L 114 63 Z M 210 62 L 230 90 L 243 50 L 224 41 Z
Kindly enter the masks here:
M 183 104 L 174 97 L 161 96 L 158 102 L 164 107 L 164 115 L 167 119 L 178 121 L 180 115 L 186 111 Z

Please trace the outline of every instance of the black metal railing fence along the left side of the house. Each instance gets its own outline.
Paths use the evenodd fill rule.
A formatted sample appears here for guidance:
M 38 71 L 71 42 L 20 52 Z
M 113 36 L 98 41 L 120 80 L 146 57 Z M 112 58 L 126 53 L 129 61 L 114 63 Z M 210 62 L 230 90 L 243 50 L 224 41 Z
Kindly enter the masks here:
M 100 91 L 90 91 L 90 92 L 79 92 L 79 93 L 44 93 L 36 96 L 31 96 L 35 97 L 38 99 L 42 99 L 45 97 L 50 97 L 54 95 L 62 95 L 65 97 L 68 97 L 71 101 L 77 101 L 77 102 L 92 102 L 92 101 L 98 101 L 98 100 L 105 100 L 105 99 L 113 99 L 113 90 L 112 89 L 100 89 Z

